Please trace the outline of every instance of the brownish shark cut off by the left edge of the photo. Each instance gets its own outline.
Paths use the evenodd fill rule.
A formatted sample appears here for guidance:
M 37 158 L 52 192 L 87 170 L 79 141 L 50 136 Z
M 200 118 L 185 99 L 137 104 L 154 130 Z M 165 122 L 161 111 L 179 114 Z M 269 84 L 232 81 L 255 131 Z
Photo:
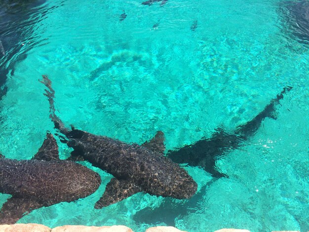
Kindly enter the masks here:
M 13 224 L 42 206 L 86 197 L 100 184 L 96 172 L 76 162 L 60 160 L 56 140 L 47 134 L 32 160 L 0 155 L 0 193 L 12 195 L 0 210 L 0 224 Z

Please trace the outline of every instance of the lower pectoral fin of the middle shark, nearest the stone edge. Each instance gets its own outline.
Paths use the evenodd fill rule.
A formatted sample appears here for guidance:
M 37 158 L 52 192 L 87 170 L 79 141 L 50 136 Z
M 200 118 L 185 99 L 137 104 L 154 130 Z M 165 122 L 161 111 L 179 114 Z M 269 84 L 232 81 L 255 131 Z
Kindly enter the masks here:
M 102 207 L 115 204 L 135 193 L 141 192 L 141 188 L 128 180 L 118 180 L 113 178 L 106 186 L 105 192 L 98 200 L 94 207 L 101 209 Z

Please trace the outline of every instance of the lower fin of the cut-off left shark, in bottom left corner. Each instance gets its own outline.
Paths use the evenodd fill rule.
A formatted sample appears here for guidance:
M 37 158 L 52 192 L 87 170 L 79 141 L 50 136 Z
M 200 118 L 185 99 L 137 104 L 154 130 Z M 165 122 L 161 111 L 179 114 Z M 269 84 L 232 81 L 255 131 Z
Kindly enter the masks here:
M 9 198 L 0 210 L 0 225 L 14 224 L 25 214 L 42 207 L 43 204 L 32 198 Z

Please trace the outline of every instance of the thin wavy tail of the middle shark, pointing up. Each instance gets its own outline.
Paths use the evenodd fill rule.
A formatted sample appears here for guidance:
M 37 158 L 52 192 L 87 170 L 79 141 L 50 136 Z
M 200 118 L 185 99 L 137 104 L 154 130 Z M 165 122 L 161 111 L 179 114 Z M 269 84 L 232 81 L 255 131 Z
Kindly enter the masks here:
M 60 130 L 61 133 L 67 135 L 67 133 L 70 132 L 68 128 L 65 127 L 62 120 L 56 115 L 56 109 L 55 109 L 55 90 L 51 87 L 51 80 L 48 78 L 47 75 L 42 75 L 42 79 L 39 80 L 39 82 L 43 83 L 47 89 L 45 89 L 44 95 L 48 98 L 49 101 L 49 117 L 51 118 L 52 122 L 55 125 L 55 128 Z

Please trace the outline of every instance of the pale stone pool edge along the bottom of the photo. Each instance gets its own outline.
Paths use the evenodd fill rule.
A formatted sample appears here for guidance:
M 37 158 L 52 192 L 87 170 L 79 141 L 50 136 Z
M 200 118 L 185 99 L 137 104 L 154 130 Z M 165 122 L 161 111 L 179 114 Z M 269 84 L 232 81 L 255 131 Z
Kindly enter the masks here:
M 0 225 L 0 232 L 133 232 L 132 229 L 126 226 L 61 226 L 53 229 L 40 224 L 13 224 Z M 151 227 L 146 232 L 184 232 L 175 227 Z M 241 229 L 221 229 L 215 232 L 250 232 Z M 279 231 L 273 231 L 279 232 Z M 283 231 L 280 231 L 283 232 Z M 284 232 L 299 232 L 299 231 L 284 231 Z

